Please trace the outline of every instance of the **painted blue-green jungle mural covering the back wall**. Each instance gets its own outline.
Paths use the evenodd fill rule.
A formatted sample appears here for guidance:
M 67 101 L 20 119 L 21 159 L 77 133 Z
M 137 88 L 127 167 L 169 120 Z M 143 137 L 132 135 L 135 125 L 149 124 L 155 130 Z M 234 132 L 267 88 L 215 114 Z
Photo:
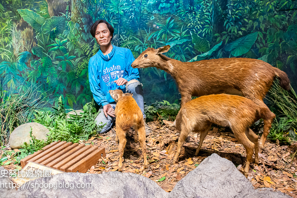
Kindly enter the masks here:
M 27 94 L 81 109 L 92 101 L 88 61 L 99 45 L 92 23 L 115 28 L 113 45 L 137 58 L 147 47 L 170 45 L 165 54 L 183 62 L 211 58 L 261 59 L 285 71 L 297 86 L 297 6 L 291 0 L 1 0 L 0 94 Z M 140 70 L 146 104 L 178 104 L 170 75 Z M 34 102 L 32 102 L 34 101 Z M 28 115 L 26 115 L 28 116 Z M 1 118 L 2 119 L 2 118 Z M 3 117 L 4 119 L 4 117 Z

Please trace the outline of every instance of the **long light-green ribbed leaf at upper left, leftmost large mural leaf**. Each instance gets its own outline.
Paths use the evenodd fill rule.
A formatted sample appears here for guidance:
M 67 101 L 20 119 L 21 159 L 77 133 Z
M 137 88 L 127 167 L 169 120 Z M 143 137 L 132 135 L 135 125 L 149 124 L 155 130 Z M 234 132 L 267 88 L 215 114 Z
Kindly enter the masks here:
M 41 26 L 45 22 L 42 16 L 29 9 L 18 9 L 18 13 L 20 13 L 21 17 L 37 32 L 41 31 Z

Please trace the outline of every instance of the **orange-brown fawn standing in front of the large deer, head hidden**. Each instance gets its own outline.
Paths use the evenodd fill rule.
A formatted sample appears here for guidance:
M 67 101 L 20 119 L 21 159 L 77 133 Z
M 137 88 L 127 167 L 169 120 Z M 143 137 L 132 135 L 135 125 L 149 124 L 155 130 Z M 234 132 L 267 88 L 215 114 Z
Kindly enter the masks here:
M 215 123 L 221 126 L 229 126 L 238 142 L 244 146 L 247 152 L 244 175 L 247 177 L 254 149 L 255 164 L 258 164 L 259 161 L 258 136 L 249 126 L 260 118 L 263 118 L 264 121 L 264 132 L 269 131 L 275 118 L 274 113 L 241 96 L 217 94 L 201 96 L 187 102 L 176 116 L 176 129 L 180 132 L 180 137 L 173 163 L 177 162 L 181 146 L 191 131 L 200 132 L 200 142 L 195 153 L 197 155 L 211 124 Z

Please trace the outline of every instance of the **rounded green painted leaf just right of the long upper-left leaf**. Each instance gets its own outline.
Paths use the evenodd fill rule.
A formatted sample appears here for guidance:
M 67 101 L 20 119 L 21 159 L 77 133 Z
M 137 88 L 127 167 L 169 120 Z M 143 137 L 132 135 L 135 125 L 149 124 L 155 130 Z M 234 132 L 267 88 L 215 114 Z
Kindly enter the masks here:
M 65 26 L 66 20 L 64 17 L 53 16 L 46 19 L 41 28 L 45 34 L 50 34 L 50 37 L 55 37 L 65 29 Z

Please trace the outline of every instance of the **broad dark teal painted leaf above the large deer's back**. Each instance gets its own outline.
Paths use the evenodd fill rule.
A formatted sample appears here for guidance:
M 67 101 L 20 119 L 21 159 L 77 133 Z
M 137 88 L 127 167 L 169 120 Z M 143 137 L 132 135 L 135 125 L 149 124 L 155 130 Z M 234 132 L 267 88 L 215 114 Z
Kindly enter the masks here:
M 245 37 L 241 37 L 231 43 L 229 43 L 226 47 L 225 50 L 231 51 L 231 54 L 233 56 L 241 56 L 244 53 L 247 53 L 252 45 L 254 45 L 256 39 L 258 37 L 258 32 L 254 32 L 252 34 L 248 34 Z

